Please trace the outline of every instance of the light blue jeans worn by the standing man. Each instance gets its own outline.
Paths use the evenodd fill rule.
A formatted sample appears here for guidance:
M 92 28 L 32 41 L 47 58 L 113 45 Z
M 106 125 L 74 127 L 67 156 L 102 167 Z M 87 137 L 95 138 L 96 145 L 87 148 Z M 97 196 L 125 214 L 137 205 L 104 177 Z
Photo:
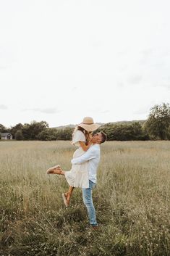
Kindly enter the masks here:
M 93 205 L 93 198 L 92 198 L 92 189 L 95 187 L 95 183 L 89 181 L 89 188 L 82 189 L 82 199 L 85 206 L 88 209 L 88 217 L 90 220 L 90 225 L 98 226 L 95 216 L 95 207 Z

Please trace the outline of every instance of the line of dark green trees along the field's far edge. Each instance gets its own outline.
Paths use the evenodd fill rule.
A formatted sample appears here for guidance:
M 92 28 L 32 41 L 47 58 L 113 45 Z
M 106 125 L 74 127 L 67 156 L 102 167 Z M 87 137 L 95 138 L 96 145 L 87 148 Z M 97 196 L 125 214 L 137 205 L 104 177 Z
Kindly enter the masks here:
M 18 123 L 11 128 L 0 124 L 0 133 L 9 132 L 16 140 L 68 140 L 72 139 L 74 128 L 49 128 L 46 121 L 28 124 Z M 148 119 L 143 122 L 106 123 L 97 131 L 103 131 L 108 141 L 170 140 L 170 106 L 155 105 L 150 109 Z

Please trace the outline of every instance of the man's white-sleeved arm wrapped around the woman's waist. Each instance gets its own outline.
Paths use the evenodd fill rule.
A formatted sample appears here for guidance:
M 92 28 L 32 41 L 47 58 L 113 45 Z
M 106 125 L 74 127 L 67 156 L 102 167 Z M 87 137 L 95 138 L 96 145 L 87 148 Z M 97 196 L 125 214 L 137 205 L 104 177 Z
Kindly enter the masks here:
M 88 149 L 88 151 L 85 152 L 85 154 L 82 154 L 80 157 L 75 157 L 71 160 L 73 165 L 80 165 L 82 162 L 87 162 L 88 160 L 91 160 L 96 157 L 96 149 L 93 148 L 93 146 Z

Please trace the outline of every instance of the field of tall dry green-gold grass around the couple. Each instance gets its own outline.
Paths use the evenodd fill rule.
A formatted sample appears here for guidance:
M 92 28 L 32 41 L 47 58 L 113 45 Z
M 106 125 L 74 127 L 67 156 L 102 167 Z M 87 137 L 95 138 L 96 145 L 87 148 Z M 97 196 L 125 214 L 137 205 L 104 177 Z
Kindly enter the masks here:
M 65 209 L 69 141 L 0 142 L 0 255 L 170 255 L 170 141 L 101 145 L 93 199 L 101 228 L 92 231 L 75 189 Z

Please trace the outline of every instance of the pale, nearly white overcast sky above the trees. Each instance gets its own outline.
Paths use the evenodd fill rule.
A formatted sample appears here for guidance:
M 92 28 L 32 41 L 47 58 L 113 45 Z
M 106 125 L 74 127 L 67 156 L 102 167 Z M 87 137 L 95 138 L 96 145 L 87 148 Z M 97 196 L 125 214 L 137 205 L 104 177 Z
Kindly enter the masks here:
M 0 0 L 0 123 L 142 120 L 170 103 L 169 0 Z

